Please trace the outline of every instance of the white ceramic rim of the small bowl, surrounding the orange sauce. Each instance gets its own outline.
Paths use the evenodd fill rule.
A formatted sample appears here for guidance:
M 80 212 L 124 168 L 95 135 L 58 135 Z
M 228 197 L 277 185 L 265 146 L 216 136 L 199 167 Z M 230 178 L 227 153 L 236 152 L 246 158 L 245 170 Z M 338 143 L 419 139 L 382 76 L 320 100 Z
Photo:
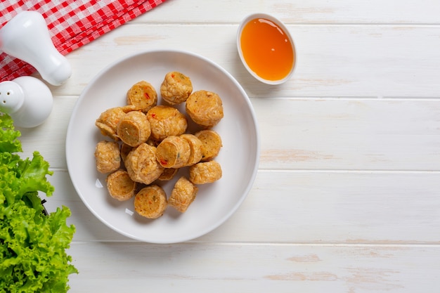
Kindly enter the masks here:
M 265 19 L 265 20 L 269 20 L 270 22 L 273 22 L 273 24 L 277 25 L 281 30 L 283 30 L 285 37 L 287 37 L 287 39 L 289 39 L 290 44 L 292 45 L 292 52 L 293 52 L 292 68 L 290 69 L 290 72 L 285 74 L 285 76 L 282 77 L 281 79 L 272 80 L 272 79 L 265 79 L 263 77 L 260 77 L 259 74 L 254 72 L 254 70 L 252 70 L 250 65 L 247 64 L 247 61 L 245 60 L 245 57 L 243 56 L 243 51 L 242 51 L 242 46 L 241 46 L 242 31 L 245 28 L 245 26 L 254 19 Z M 238 49 L 238 55 L 240 56 L 240 59 L 241 59 L 243 65 L 245 65 L 245 68 L 247 69 L 248 72 L 250 72 L 250 74 L 252 74 L 253 77 L 255 77 L 257 80 L 259 80 L 259 82 L 263 82 L 264 84 L 273 84 L 273 85 L 283 84 L 284 82 L 287 82 L 287 80 L 289 80 L 290 77 L 292 77 L 292 74 L 295 70 L 295 65 L 297 63 L 297 53 L 295 51 L 295 43 L 293 42 L 292 36 L 290 35 L 289 30 L 287 30 L 287 27 L 285 27 L 283 22 L 278 20 L 278 18 L 274 17 L 273 15 L 268 15 L 266 13 L 252 13 L 250 15 L 247 15 L 247 17 L 244 18 L 242 20 L 242 22 L 240 22 L 240 25 L 238 27 L 237 49 Z

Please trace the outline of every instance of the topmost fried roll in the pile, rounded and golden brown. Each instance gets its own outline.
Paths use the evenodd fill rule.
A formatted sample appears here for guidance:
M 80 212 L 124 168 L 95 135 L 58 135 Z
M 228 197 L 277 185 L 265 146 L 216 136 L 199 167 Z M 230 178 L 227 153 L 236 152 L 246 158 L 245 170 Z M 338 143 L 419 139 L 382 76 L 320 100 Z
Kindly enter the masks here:
M 160 96 L 171 105 L 186 101 L 193 92 L 193 84 L 189 77 L 177 71 L 165 74 L 160 85 Z

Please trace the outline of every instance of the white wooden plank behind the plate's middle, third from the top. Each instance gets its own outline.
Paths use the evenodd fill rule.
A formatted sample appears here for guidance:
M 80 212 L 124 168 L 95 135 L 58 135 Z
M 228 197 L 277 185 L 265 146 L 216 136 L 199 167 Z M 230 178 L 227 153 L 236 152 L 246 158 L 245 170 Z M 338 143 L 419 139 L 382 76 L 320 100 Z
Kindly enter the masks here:
M 67 169 L 65 135 L 76 100 L 56 97 L 48 121 L 22 129 L 23 155 L 39 150 L 52 168 Z M 439 170 L 438 100 L 252 98 L 252 105 L 261 169 Z

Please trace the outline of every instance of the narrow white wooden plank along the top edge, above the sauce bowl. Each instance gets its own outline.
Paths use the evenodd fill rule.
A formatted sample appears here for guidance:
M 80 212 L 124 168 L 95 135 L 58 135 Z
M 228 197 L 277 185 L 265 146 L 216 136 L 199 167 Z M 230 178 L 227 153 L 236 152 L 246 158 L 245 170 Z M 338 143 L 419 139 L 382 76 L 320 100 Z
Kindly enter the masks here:
M 206 13 L 209 11 L 211 13 Z M 287 23 L 439 23 L 440 5 L 421 1 L 215 1 L 167 0 L 134 22 L 239 22 L 255 12 L 271 13 Z

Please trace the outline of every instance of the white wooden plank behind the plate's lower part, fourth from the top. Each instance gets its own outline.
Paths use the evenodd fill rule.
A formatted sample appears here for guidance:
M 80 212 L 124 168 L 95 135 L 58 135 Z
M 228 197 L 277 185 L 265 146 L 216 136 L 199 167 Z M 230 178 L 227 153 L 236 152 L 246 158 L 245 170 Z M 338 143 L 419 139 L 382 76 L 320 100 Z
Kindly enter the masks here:
M 131 241 L 91 214 L 66 171 L 49 180 L 46 207 L 70 207 L 75 241 Z M 194 242 L 440 244 L 438 190 L 440 172 L 259 171 L 231 219 Z

